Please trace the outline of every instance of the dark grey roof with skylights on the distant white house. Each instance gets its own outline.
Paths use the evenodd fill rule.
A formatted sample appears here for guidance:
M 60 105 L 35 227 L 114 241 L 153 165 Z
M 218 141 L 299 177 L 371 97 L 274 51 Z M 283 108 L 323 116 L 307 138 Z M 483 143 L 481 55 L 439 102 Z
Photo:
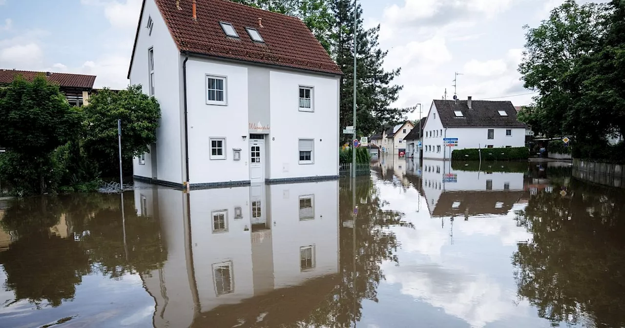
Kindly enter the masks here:
M 510 101 L 474 100 L 472 109 L 466 100 L 434 100 L 434 105 L 443 127 L 526 127 L 517 120 Z M 462 117 L 456 117 L 454 111 L 461 111 Z M 507 116 L 499 115 L 499 111 L 505 111 Z

